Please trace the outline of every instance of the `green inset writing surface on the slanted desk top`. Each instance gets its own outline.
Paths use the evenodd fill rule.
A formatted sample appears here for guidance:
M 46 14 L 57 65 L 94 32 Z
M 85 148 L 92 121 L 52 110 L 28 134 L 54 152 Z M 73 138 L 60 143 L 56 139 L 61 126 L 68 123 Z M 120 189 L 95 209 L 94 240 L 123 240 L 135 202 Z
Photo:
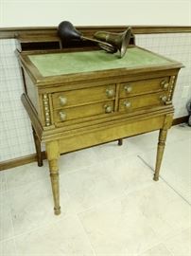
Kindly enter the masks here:
M 43 77 L 115 68 L 147 67 L 171 62 L 138 47 L 128 48 L 120 59 L 103 50 L 29 55 Z

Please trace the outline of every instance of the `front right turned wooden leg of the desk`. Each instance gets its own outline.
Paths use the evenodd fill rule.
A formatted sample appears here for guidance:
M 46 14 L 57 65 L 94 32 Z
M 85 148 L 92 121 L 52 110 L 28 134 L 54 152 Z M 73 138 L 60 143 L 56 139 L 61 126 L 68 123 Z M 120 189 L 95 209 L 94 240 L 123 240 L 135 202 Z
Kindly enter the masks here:
M 157 148 L 157 158 L 156 158 L 156 166 L 155 166 L 155 173 L 153 179 L 157 181 L 159 179 L 159 172 L 161 168 L 161 163 L 164 155 L 165 150 L 165 139 L 167 136 L 167 129 L 161 129 L 159 132 L 159 142 Z

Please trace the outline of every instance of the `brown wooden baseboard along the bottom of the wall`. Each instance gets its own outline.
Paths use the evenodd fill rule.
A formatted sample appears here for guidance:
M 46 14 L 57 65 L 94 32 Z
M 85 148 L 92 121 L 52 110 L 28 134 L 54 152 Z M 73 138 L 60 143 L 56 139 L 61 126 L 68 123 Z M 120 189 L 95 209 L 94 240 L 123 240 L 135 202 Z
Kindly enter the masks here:
M 183 122 L 187 122 L 188 120 L 188 116 L 184 116 L 178 119 L 174 119 L 172 122 L 172 125 L 177 125 Z M 45 156 L 45 152 L 43 151 L 43 159 L 46 158 Z M 14 158 L 8 161 L 4 161 L 0 163 L 0 171 L 4 171 L 4 170 L 8 170 L 10 168 L 14 168 L 14 167 L 18 167 L 18 166 L 22 166 L 28 163 L 32 163 L 32 162 L 37 162 L 37 156 L 36 154 L 32 154 L 32 155 L 26 155 L 26 156 L 22 156 L 22 157 L 18 157 L 18 158 Z

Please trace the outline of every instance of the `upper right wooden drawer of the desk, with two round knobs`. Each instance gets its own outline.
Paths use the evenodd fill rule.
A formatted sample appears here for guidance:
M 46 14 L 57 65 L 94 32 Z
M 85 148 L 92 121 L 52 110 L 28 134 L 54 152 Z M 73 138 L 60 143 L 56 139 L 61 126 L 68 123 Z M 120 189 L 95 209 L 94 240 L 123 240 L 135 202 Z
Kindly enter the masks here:
M 169 77 L 148 79 L 142 81 L 124 82 L 120 84 L 119 98 L 129 96 L 148 94 L 167 90 L 169 86 Z

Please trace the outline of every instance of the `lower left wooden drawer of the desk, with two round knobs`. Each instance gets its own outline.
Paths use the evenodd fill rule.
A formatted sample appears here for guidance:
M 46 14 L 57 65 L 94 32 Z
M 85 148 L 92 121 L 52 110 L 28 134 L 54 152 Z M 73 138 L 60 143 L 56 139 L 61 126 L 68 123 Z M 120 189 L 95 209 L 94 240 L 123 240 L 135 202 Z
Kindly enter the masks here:
M 113 101 L 98 102 L 95 104 L 55 110 L 54 119 L 55 122 L 65 122 L 72 119 L 82 119 L 100 114 L 110 114 L 113 113 L 113 109 Z

